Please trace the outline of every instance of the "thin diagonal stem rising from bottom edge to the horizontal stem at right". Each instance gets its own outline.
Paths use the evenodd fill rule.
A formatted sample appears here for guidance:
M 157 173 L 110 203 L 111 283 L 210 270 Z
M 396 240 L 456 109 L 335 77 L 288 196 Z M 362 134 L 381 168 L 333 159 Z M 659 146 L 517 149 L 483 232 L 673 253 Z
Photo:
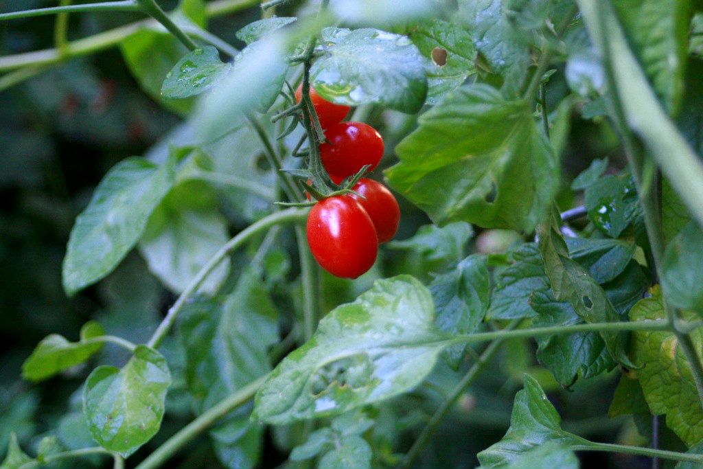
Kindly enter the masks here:
M 504 330 L 515 329 L 518 324 L 520 324 L 520 321 L 520 319 L 513 319 L 512 321 L 510 321 L 508 326 L 505 327 Z M 453 390 L 451 390 L 451 392 L 449 393 L 449 397 L 447 397 L 446 400 L 442 402 L 441 406 L 439 406 L 439 409 L 434 412 L 432 418 L 430 418 L 430 421 L 427 422 L 427 425 L 425 425 L 423 431 L 420 432 L 420 436 L 418 437 L 418 439 L 415 439 L 413 446 L 411 446 L 402 463 L 399 465 L 399 469 L 408 469 L 412 467 L 413 463 L 415 463 L 415 459 L 420 456 L 420 452 L 423 451 L 423 448 L 425 447 L 427 442 L 430 441 L 430 438 L 432 437 L 432 435 L 434 435 L 434 432 L 437 431 L 439 424 L 442 420 L 444 420 L 446 414 L 451 411 L 461 394 L 463 394 L 467 390 L 467 388 L 474 382 L 479 373 L 481 373 L 486 367 L 486 364 L 488 364 L 489 361 L 493 359 L 496 352 L 498 352 L 498 349 L 501 347 L 501 345 L 503 345 L 504 340 L 504 338 L 498 338 L 491 342 L 488 347 L 486 347 L 486 349 L 476 360 L 475 364 L 473 364 L 473 366 L 464 375 L 464 377 L 461 378 L 461 380 L 459 381 L 459 383 L 457 383 Z

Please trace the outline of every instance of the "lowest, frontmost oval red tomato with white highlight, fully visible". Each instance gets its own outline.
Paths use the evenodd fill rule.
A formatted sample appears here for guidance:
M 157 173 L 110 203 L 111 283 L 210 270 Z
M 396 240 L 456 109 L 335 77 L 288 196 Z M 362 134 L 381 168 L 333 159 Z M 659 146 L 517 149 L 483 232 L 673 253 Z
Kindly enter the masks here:
M 351 197 L 337 195 L 316 203 L 307 220 L 315 260 L 337 277 L 356 278 L 373 266 L 378 237 L 373 222 Z

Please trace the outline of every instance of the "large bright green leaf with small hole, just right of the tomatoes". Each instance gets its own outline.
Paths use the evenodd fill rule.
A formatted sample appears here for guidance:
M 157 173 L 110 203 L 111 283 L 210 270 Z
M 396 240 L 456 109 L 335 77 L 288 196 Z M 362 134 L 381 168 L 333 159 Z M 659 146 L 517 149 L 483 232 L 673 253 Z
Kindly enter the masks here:
M 531 231 L 543 219 L 559 170 L 527 103 L 505 101 L 485 84 L 465 85 L 419 123 L 396 146 L 400 162 L 386 176 L 435 224 Z

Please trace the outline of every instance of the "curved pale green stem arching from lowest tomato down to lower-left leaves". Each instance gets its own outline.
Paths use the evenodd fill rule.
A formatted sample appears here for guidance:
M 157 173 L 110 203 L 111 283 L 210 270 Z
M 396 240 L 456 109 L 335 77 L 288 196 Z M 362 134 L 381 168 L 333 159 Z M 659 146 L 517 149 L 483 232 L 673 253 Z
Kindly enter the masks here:
M 202 282 L 205 281 L 207 276 L 212 271 L 214 271 L 214 269 L 217 268 L 220 262 L 222 262 L 225 257 L 229 255 L 230 252 L 238 248 L 240 245 L 243 245 L 243 243 L 252 238 L 252 236 L 254 236 L 255 234 L 259 233 L 260 231 L 264 231 L 271 226 L 284 223 L 295 223 L 297 221 L 304 220 L 305 217 L 307 217 L 307 212 L 307 210 L 299 208 L 290 208 L 288 210 L 281 210 L 280 212 L 273 212 L 267 217 L 260 219 L 256 223 L 247 226 L 247 228 L 240 231 L 237 236 L 229 240 L 224 246 L 220 248 L 219 251 L 217 251 L 209 259 L 209 261 L 207 261 L 207 264 L 202 266 L 202 269 L 198 271 L 198 274 L 195 274 L 193 280 L 188 283 L 186 289 L 183 290 L 181 296 L 178 297 L 176 302 L 169 309 L 168 313 L 166 314 L 166 317 L 156 328 L 154 334 L 151 336 L 147 345 L 152 348 L 157 348 L 159 347 L 159 345 L 161 345 L 161 342 L 169 333 L 169 330 L 171 330 L 174 322 L 176 321 L 176 318 L 178 317 L 179 312 L 186 305 L 188 299 L 190 299 L 190 297 L 195 294 L 198 288 L 200 288 L 200 285 L 202 285 Z

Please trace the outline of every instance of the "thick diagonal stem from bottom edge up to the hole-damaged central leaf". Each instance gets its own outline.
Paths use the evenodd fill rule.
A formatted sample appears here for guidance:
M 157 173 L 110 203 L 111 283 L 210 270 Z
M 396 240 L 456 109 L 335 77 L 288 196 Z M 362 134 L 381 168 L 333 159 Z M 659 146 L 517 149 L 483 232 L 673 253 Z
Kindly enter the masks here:
M 218 404 L 215 404 L 205 411 L 205 413 L 202 413 L 198 418 L 195 418 L 195 420 L 179 430 L 176 435 L 167 439 L 166 442 L 159 446 L 148 458 L 137 465 L 136 469 L 154 469 L 164 464 L 176 451 L 188 444 L 188 442 L 191 442 L 195 437 L 198 437 L 202 432 L 205 432 L 205 430 L 214 425 L 214 423 L 217 423 L 217 420 L 254 397 L 254 394 L 259 390 L 259 387 L 262 387 L 268 377 L 268 374 L 264 375 L 241 388 L 231 396 L 219 401 Z

